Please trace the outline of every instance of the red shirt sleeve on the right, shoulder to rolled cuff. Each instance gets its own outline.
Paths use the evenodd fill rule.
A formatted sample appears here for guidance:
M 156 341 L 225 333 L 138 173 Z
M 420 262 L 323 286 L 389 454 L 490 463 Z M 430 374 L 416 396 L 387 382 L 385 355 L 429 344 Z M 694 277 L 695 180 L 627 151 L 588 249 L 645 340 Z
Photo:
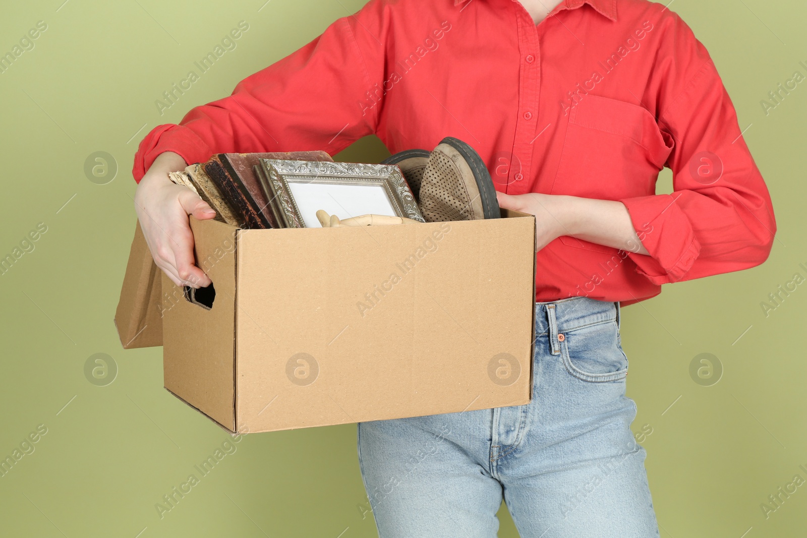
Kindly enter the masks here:
M 659 127 L 675 144 L 667 160 L 674 192 L 621 200 L 649 252 L 629 256 L 656 285 L 759 265 L 776 233 L 770 195 L 713 61 L 683 22 L 676 33 L 670 46 L 683 50 L 659 69 L 673 78 L 658 86 Z

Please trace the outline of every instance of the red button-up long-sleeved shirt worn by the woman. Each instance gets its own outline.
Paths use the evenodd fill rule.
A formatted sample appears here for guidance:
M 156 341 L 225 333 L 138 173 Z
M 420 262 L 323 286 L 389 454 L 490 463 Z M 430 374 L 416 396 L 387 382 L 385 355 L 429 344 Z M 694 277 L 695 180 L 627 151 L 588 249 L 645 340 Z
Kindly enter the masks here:
M 537 301 L 650 298 L 759 265 L 776 231 L 709 53 L 645 0 L 566 0 L 537 25 L 514 0 L 371 0 L 154 128 L 133 174 L 165 151 L 335 154 L 370 134 L 393 153 L 465 140 L 508 194 L 623 202 L 650 255 L 560 237 L 537 254 Z M 656 195 L 664 166 L 675 192 Z

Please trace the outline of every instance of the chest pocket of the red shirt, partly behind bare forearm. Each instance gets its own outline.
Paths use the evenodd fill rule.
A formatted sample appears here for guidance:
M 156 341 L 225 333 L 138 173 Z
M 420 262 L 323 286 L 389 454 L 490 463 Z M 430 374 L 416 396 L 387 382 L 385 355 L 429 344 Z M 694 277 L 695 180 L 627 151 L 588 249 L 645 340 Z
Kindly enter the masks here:
M 550 194 L 619 200 L 655 194 L 674 147 L 643 106 L 588 94 L 569 111 L 566 139 Z M 613 252 L 562 237 L 567 246 Z

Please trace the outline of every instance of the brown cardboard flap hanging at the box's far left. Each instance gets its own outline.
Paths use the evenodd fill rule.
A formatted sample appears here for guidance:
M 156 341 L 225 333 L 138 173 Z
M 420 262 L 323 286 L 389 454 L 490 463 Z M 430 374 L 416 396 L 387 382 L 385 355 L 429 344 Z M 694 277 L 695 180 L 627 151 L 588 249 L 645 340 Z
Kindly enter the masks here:
M 115 311 L 115 327 L 124 349 L 162 345 L 160 273 L 138 221 Z

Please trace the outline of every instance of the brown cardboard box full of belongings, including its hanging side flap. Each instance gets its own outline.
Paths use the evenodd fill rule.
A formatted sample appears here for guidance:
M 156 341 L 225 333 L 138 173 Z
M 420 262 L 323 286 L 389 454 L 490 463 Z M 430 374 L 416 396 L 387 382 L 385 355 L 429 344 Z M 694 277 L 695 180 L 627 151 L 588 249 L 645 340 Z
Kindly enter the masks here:
M 115 323 L 124 347 L 162 343 L 165 388 L 230 432 L 525 404 L 535 219 L 503 217 L 276 230 L 191 218 L 209 309 L 148 269 L 138 227 Z

